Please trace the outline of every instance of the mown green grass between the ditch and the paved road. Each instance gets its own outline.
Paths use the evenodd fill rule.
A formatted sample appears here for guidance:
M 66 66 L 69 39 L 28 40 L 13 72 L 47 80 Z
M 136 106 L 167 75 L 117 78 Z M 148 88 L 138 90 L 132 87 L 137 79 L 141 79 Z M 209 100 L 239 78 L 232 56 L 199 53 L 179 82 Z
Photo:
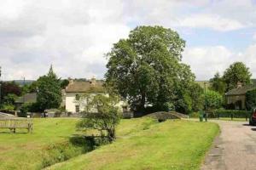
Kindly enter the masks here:
M 123 129 L 119 133 L 122 135 L 113 144 L 55 164 L 49 169 L 199 169 L 219 131 L 218 125 L 211 122 L 167 121 L 152 124 L 138 123 L 138 120 L 142 121 L 133 119 L 123 122 L 119 126 Z M 127 127 L 132 127 L 132 130 Z M 137 130 L 137 127 L 143 127 L 143 130 Z

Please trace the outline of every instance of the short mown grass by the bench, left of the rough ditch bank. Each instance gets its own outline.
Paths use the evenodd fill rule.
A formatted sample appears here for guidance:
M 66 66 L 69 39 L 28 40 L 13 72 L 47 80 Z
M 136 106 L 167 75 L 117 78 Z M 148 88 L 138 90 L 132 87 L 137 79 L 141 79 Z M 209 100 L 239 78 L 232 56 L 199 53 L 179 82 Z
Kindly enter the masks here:
M 67 140 L 75 132 L 77 119 L 34 119 L 34 131 L 9 133 L 0 129 L 0 169 L 37 169 L 44 147 Z M 26 131 L 23 131 L 26 132 Z

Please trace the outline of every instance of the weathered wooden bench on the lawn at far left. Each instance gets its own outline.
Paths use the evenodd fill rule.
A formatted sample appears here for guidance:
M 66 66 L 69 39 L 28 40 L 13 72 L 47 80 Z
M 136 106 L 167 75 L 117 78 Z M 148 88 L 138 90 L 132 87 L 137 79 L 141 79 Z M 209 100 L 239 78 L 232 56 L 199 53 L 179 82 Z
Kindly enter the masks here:
M 16 128 L 26 128 L 27 133 L 32 133 L 32 119 L 21 117 L 2 117 L 0 118 L 0 128 L 9 128 L 16 133 Z

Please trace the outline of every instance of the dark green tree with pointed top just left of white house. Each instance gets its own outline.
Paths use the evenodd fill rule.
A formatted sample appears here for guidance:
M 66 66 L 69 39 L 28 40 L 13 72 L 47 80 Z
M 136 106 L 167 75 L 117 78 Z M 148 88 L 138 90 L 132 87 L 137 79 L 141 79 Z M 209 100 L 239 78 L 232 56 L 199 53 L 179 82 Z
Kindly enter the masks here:
M 38 78 L 38 105 L 41 111 L 59 108 L 61 105 L 61 80 L 55 75 L 52 65 L 47 75 Z

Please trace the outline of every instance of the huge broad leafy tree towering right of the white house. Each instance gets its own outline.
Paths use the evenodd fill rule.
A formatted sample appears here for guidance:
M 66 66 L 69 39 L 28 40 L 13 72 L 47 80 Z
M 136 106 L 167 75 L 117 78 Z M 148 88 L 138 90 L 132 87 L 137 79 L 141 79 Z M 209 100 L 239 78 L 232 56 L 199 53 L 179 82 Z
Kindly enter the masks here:
M 107 54 L 107 87 L 116 89 L 137 111 L 143 111 L 145 105 L 175 106 L 183 101 L 186 105 L 195 75 L 189 65 L 181 63 L 184 47 L 176 31 L 137 26 Z

